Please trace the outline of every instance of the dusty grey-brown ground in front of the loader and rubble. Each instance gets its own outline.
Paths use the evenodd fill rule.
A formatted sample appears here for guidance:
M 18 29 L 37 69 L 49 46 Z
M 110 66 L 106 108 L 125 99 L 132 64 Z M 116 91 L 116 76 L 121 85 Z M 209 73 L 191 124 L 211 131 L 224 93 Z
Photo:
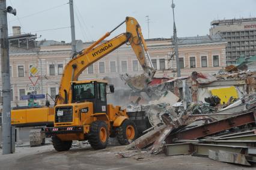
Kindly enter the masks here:
M 2 150 L 0 150 L 2 153 Z M 120 154 L 121 153 L 121 154 Z M 123 156 L 122 156 L 123 155 Z M 57 152 L 52 145 L 16 147 L 16 153 L 0 155 L 0 169 L 256 169 L 216 162 L 204 157 L 151 155 L 127 151 L 123 146 L 93 150 L 90 145 Z

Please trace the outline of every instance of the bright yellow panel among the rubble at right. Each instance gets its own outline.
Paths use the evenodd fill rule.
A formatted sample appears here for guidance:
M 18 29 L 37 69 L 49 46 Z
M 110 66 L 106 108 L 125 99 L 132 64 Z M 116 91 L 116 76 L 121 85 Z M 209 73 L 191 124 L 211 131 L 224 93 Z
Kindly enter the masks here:
M 232 96 L 235 99 L 238 99 L 238 93 L 236 87 L 222 87 L 222 88 L 209 88 L 213 96 L 218 96 L 221 99 L 221 103 L 227 103 L 230 97 Z

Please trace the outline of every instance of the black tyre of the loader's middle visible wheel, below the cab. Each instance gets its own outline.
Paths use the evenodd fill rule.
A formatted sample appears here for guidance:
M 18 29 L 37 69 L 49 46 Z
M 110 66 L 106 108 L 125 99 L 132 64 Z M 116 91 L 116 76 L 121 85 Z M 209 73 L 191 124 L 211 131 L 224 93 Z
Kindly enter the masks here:
M 102 140 L 100 138 L 101 130 L 105 129 L 106 132 L 106 139 Z M 102 150 L 106 148 L 108 144 L 109 132 L 108 126 L 105 121 L 94 121 L 90 126 L 90 133 L 89 133 L 88 141 L 94 150 Z

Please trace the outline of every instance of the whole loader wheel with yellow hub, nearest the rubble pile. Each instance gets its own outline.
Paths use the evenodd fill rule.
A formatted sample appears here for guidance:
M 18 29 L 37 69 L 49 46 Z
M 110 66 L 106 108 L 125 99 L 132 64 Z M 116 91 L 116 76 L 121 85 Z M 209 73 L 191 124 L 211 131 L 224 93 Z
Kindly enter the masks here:
M 131 120 L 125 120 L 117 128 L 117 139 L 121 145 L 128 145 L 129 141 L 134 141 L 138 136 L 138 130 L 135 123 Z

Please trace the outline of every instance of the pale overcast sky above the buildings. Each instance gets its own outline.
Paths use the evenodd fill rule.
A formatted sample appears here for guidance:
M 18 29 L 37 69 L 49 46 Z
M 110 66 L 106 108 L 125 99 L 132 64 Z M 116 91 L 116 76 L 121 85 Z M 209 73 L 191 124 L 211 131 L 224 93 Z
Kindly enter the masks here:
M 97 40 L 111 31 L 126 16 L 135 17 L 148 38 L 170 38 L 173 31 L 171 0 L 73 0 L 76 40 Z M 8 14 L 11 26 L 21 26 L 22 32 L 37 34 L 46 40 L 71 41 L 69 0 L 7 0 L 17 10 L 17 16 Z M 210 22 L 215 19 L 233 19 L 256 16 L 255 0 L 174 0 L 178 37 L 209 34 Z M 62 29 L 56 29 L 62 28 Z M 54 30 L 47 30 L 54 29 Z M 118 35 L 125 32 L 121 27 Z M 40 40 L 41 38 L 38 38 Z

